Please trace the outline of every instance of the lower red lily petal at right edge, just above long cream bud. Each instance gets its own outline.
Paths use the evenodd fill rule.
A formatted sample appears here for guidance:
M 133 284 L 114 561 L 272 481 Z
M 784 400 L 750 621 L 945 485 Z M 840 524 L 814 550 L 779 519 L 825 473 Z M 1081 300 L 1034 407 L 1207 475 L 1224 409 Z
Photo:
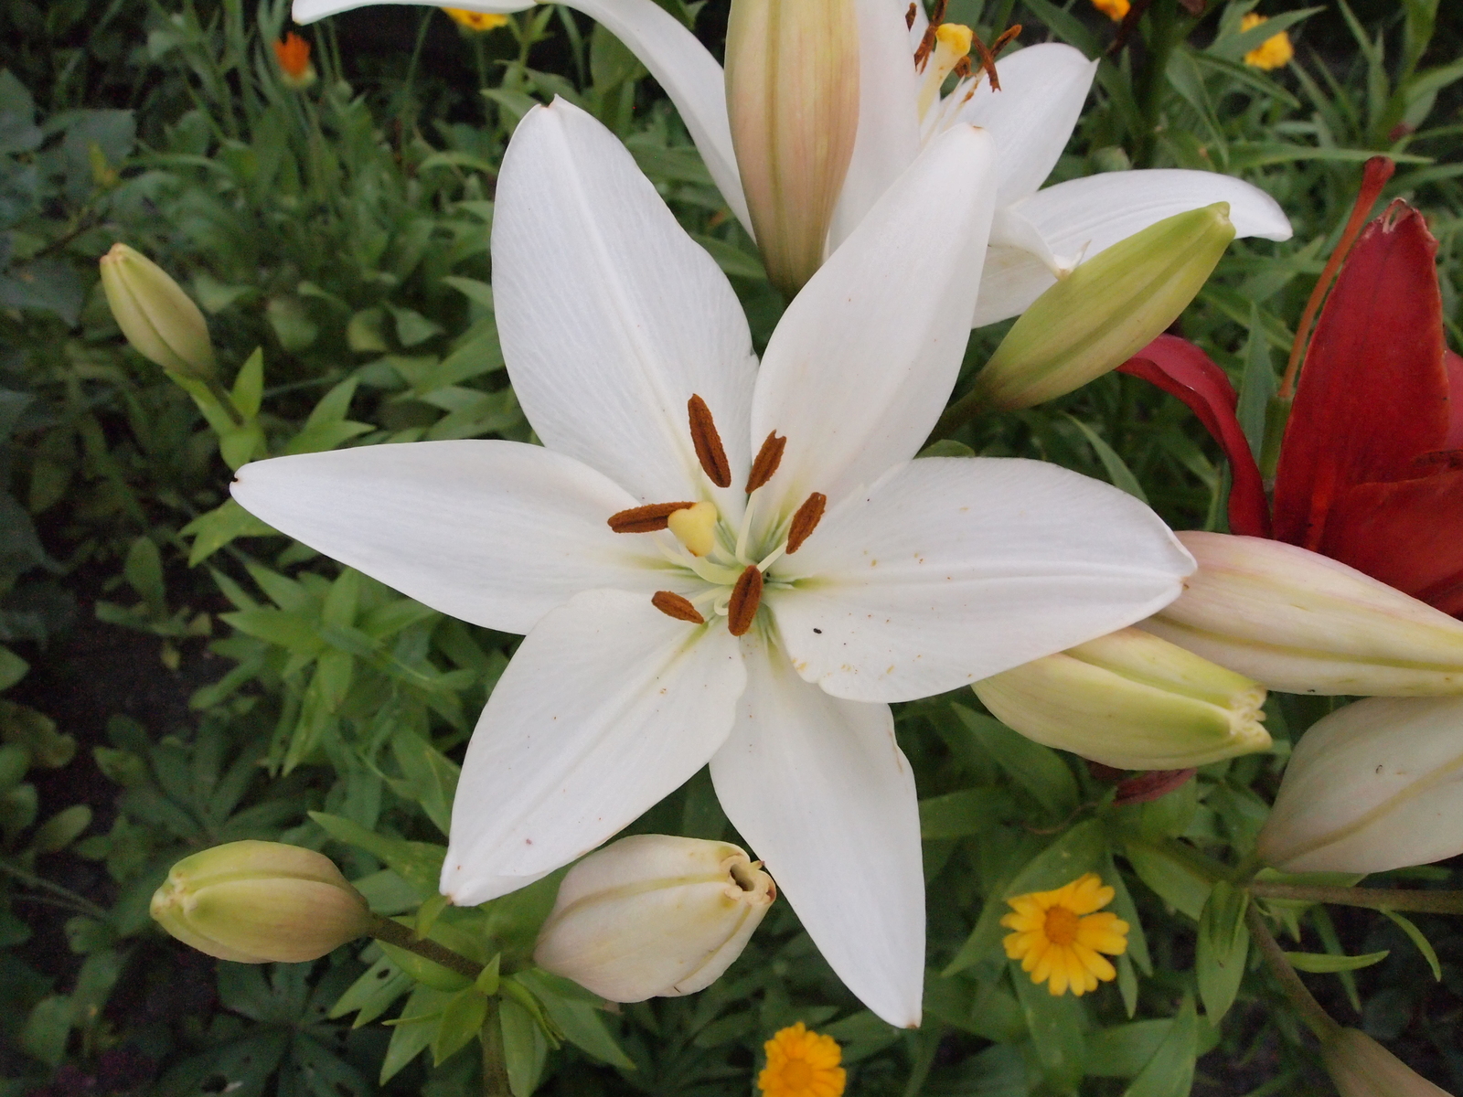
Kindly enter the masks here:
M 1336 496 L 1320 551 L 1444 613 L 1463 613 L 1463 471 Z

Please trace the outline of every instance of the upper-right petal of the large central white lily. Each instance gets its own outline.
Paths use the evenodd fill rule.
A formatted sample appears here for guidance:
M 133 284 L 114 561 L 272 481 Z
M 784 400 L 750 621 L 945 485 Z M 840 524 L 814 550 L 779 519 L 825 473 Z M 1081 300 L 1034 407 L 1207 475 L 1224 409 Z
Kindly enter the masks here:
M 762 355 L 752 437 L 787 437 L 767 491 L 834 503 L 914 456 L 969 338 L 995 209 L 989 135 L 936 137 L 783 313 Z

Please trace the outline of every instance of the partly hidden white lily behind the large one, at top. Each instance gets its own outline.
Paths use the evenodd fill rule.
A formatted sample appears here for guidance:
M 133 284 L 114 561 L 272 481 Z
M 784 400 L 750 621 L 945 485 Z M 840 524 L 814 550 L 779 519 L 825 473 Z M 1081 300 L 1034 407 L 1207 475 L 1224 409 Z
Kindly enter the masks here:
M 294 18 L 306 23 L 386 1 L 294 0 Z M 533 7 L 524 0 L 452 3 L 474 12 Z M 732 148 L 726 82 L 715 59 L 655 0 L 568 0 L 568 6 L 604 23 L 660 82 L 732 212 L 752 233 Z M 916 72 L 911 51 L 923 22 L 906 28 L 907 10 L 907 0 L 857 0 L 859 129 L 830 250 L 843 243 L 920 148 L 954 124 L 990 132 L 999 173 L 986 257 L 992 276 L 980 287 L 971 326 L 1018 316 L 1083 259 L 1163 218 L 1216 202 L 1229 203 L 1236 235 L 1290 238 L 1290 222 L 1273 197 L 1214 171 L 1109 171 L 1040 189 L 1071 139 L 1097 61 L 1058 42 L 1031 45 L 996 63 L 1001 91 L 992 91 L 977 73 L 939 98 L 941 83 L 963 56 L 958 35 L 949 35 L 951 42 L 938 45 L 923 72 Z

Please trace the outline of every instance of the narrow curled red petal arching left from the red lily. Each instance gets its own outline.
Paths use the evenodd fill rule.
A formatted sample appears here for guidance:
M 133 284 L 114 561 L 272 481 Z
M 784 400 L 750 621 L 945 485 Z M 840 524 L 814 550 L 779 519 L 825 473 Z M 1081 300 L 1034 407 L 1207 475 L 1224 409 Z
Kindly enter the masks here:
M 1204 351 L 1176 335 L 1160 335 L 1118 367 L 1157 385 L 1189 405 L 1229 458 L 1229 529 L 1245 537 L 1270 537 L 1270 508 L 1260 467 L 1235 418 L 1239 395 L 1225 372 Z

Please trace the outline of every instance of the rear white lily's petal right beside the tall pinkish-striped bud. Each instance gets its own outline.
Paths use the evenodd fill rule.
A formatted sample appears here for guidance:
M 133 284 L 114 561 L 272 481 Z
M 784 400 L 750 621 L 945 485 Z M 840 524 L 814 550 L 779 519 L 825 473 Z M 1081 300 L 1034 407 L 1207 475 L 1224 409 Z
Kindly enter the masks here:
M 907 9 L 900 0 L 857 0 L 859 136 L 828 230 L 830 252 L 919 155 L 919 76 L 904 29 Z

